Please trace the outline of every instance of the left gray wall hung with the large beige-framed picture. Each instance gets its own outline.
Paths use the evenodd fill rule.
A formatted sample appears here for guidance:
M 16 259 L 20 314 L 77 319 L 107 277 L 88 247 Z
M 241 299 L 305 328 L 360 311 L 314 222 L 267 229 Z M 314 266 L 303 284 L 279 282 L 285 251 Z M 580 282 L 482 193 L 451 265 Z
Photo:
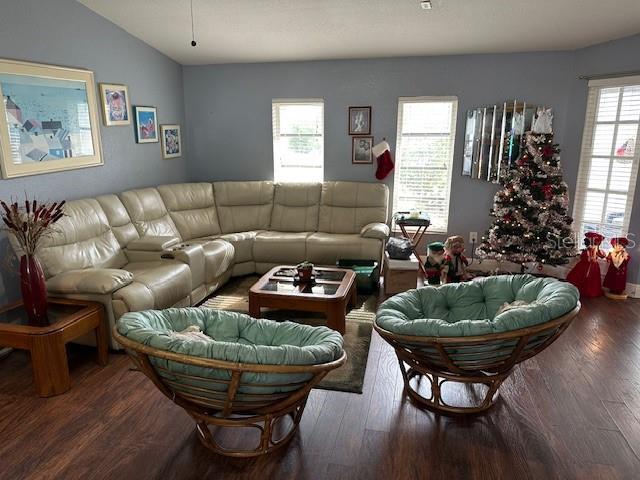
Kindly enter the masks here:
M 160 123 L 184 124 L 182 67 L 74 0 L 0 0 L 0 57 L 93 70 L 124 83 L 134 105 L 154 105 Z M 104 127 L 104 165 L 0 180 L 0 198 L 74 199 L 186 179 L 186 157 L 163 160 L 157 143 L 135 143 L 133 126 Z M 0 238 L 0 304 L 15 298 L 14 268 Z M 8 293 L 5 291 L 8 290 Z

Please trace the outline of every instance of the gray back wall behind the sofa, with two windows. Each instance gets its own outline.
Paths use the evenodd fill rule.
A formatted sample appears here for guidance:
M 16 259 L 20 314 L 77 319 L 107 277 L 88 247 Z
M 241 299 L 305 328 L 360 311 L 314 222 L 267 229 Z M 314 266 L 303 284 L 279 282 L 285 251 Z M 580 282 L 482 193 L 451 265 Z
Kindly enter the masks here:
M 184 67 L 189 176 L 273 178 L 271 100 L 325 102 L 325 180 L 376 181 L 375 165 L 351 163 L 347 107 L 372 106 L 372 134 L 395 147 L 398 97 L 455 95 L 458 124 L 449 231 L 482 232 L 496 187 L 462 177 L 464 112 L 518 98 L 555 107 L 557 139 L 567 120 L 573 55 L 538 53 Z M 576 162 L 576 158 L 568 158 Z M 392 185 L 392 176 L 387 179 Z

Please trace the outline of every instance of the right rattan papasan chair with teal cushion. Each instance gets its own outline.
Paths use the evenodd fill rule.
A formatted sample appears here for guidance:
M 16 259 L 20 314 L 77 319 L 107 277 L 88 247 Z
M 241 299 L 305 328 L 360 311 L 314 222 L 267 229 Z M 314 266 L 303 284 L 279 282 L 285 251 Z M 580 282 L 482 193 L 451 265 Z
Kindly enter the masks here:
M 579 298 L 573 285 L 553 278 L 484 277 L 391 297 L 375 329 L 395 349 L 413 401 L 441 413 L 477 413 L 493 405 L 517 363 L 569 326 Z M 473 401 L 443 398 L 446 382 L 467 384 Z

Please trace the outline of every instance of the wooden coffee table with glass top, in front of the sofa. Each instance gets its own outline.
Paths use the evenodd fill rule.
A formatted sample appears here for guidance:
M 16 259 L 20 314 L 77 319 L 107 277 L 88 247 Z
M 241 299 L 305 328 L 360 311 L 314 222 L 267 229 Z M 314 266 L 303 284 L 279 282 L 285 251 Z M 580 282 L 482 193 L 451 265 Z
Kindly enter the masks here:
M 355 272 L 315 267 L 313 284 L 296 284 L 295 268 L 281 265 L 265 273 L 249 290 L 249 314 L 260 318 L 262 307 L 324 313 L 327 326 L 344 334 L 347 307 L 356 304 Z

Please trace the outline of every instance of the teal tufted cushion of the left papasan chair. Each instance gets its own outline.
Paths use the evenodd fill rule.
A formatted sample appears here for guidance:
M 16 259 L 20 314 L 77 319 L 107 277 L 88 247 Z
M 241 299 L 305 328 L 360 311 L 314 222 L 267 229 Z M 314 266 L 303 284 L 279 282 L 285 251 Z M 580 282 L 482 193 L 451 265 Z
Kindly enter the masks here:
M 211 341 L 185 339 L 172 335 L 196 325 Z M 327 327 L 311 327 L 293 322 L 257 320 L 242 313 L 207 308 L 169 308 L 130 312 L 117 322 L 124 337 L 150 347 L 199 358 L 259 365 L 318 365 L 339 359 L 342 335 Z M 231 373 L 151 357 L 165 379 L 191 388 L 201 396 L 202 389 L 226 391 L 223 383 L 206 379 L 229 380 Z M 173 374 L 173 375 L 172 375 Z M 187 378 L 200 377 L 204 380 Z M 240 393 L 277 393 L 296 390 L 287 383 L 303 382 L 310 374 L 254 373 L 242 375 Z M 256 385 L 259 384 L 259 385 Z M 269 384 L 275 384 L 269 386 Z M 248 385 L 248 386 L 247 386 Z M 253 386 L 252 386 L 253 385 Z M 267 386 L 261 386 L 267 385 Z M 215 395 L 215 394 L 213 394 Z

